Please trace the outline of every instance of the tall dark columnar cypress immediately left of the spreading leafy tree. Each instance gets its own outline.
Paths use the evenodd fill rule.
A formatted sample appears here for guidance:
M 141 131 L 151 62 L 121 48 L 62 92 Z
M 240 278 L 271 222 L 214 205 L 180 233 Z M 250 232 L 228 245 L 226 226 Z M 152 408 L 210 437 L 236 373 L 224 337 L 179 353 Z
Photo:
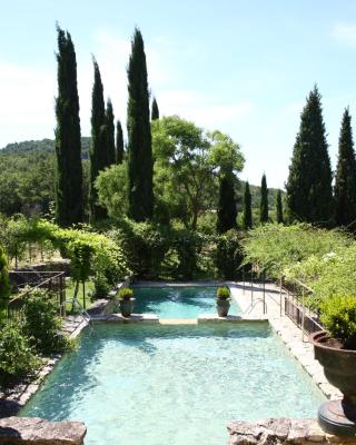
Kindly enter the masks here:
M 149 119 L 147 66 L 141 32 L 136 28 L 128 66 L 128 201 L 136 221 L 154 214 L 154 161 Z

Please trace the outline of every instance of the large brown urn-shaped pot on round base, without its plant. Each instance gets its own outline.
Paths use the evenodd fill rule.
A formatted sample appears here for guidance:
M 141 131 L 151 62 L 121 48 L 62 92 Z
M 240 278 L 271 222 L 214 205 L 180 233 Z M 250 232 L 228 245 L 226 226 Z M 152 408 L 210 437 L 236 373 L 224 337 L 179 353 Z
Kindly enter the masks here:
M 320 426 L 330 434 L 356 436 L 356 350 L 328 345 L 330 337 L 324 330 L 312 334 L 315 358 L 324 367 L 327 380 L 344 395 L 342 400 L 322 405 Z

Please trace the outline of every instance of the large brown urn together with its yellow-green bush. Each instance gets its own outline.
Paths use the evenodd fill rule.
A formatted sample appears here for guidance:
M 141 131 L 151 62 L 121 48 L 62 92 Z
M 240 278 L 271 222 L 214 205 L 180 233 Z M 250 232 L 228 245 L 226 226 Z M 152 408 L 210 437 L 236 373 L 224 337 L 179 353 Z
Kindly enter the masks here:
M 324 301 L 320 318 L 326 330 L 310 337 L 315 358 L 344 397 L 320 406 L 319 424 L 327 433 L 356 437 L 356 297 L 336 295 Z

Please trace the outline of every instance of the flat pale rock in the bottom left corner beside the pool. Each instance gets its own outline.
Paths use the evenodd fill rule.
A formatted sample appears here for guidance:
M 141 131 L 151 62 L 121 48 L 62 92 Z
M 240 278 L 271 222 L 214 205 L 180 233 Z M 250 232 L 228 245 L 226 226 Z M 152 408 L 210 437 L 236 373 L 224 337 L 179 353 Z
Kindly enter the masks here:
M 82 445 L 86 433 L 81 422 L 47 422 L 39 417 L 0 419 L 0 445 Z

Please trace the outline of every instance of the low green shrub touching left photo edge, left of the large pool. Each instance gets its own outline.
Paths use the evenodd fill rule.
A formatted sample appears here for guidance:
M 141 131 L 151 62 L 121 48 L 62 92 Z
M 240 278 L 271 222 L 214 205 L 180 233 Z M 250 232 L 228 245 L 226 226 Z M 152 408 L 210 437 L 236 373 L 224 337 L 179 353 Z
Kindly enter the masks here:
M 21 377 L 31 376 L 40 366 L 21 325 L 11 322 L 0 328 L 0 385 L 8 386 Z

